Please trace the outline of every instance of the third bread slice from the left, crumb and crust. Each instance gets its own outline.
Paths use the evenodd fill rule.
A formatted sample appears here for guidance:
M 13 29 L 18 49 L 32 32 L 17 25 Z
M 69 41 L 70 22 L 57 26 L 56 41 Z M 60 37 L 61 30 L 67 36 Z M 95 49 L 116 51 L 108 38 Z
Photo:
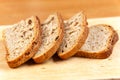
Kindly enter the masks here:
M 66 20 L 64 24 L 65 35 L 57 53 L 60 58 L 68 59 L 84 44 L 88 35 L 88 27 L 86 16 L 83 12 L 77 13 L 72 18 Z

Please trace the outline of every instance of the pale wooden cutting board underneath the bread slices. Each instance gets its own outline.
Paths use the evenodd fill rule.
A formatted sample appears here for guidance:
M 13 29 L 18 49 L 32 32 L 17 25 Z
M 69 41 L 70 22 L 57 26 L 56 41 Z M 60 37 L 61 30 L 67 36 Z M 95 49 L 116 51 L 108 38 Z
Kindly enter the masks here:
M 120 36 L 120 17 L 89 19 L 89 25 L 109 24 Z M 120 40 L 112 55 L 107 59 L 72 57 L 60 60 L 56 55 L 43 64 L 32 60 L 22 66 L 9 68 L 5 60 L 5 48 L 0 27 L 0 80 L 80 80 L 80 79 L 120 79 Z

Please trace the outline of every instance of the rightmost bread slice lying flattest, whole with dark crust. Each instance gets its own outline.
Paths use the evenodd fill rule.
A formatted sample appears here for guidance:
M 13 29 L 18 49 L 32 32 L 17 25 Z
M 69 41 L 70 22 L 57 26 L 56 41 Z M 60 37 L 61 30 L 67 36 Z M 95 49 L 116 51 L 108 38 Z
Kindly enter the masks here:
M 114 44 L 118 41 L 117 32 L 105 24 L 93 25 L 89 28 L 88 38 L 76 56 L 103 59 L 110 56 Z

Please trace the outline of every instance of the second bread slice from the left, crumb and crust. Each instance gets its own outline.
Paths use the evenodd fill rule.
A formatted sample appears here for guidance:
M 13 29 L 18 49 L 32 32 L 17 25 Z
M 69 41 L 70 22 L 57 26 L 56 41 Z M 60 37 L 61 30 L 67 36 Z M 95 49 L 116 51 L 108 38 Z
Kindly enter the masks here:
M 33 57 L 36 63 L 43 63 L 56 53 L 63 39 L 63 26 L 62 18 L 58 13 L 50 15 L 42 24 L 42 44 Z

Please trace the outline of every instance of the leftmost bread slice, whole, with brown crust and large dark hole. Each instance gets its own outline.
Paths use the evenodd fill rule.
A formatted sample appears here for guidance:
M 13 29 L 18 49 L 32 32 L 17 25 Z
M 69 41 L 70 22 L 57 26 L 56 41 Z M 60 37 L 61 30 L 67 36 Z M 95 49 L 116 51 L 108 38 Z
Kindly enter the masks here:
M 3 38 L 8 65 L 18 67 L 33 57 L 40 47 L 40 21 L 36 16 L 22 20 L 5 29 Z

